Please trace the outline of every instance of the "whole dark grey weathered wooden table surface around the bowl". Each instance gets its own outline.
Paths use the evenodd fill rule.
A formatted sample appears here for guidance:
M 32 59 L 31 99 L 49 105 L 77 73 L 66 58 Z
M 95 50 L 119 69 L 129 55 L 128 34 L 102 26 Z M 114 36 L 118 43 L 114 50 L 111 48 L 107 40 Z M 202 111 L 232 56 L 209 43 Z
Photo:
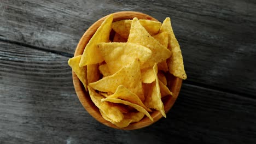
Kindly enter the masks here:
M 67 64 L 116 11 L 171 17 L 188 79 L 167 118 L 108 128 L 86 112 Z M 256 3 L 0 0 L 0 143 L 256 143 Z

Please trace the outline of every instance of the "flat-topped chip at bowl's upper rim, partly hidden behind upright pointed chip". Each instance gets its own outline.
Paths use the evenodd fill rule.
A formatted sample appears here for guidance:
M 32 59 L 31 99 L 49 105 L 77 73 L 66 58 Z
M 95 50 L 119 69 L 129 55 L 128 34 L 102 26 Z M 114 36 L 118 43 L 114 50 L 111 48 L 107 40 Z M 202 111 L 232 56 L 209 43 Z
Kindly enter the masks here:
M 150 20 L 139 20 L 141 25 L 148 31 L 150 35 L 155 35 L 159 32 L 161 22 Z M 112 23 L 114 31 L 121 35 L 124 39 L 128 39 L 132 20 L 120 20 Z

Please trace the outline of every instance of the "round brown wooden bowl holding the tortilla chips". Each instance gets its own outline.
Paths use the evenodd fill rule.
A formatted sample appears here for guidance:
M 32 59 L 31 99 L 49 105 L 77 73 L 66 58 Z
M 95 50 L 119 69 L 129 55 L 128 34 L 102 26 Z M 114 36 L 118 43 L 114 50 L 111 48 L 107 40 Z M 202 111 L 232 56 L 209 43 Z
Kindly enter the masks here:
M 108 16 L 108 15 L 107 15 Z M 80 39 L 77 48 L 75 49 L 74 56 L 82 55 L 84 48 L 86 44 L 89 42 L 91 39 L 92 35 L 96 32 L 97 28 L 100 27 L 101 23 L 106 19 L 107 16 L 102 17 L 100 20 L 96 21 L 82 36 Z M 143 13 L 138 13 L 135 11 L 121 11 L 113 14 L 113 22 L 114 21 L 119 21 L 119 20 L 124 20 L 124 19 L 133 19 L 133 17 L 137 17 L 138 19 L 146 19 L 146 20 L 153 20 L 153 21 L 158 21 L 154 19 L 154 17 L 143 14 Z M 78 79 L 77 75 L 75 75 L 74 71 L 72 71 L 72 77 L 73 77 L 73 83 L 74 83 L 74 88 L 75 92 L 77 93 L 77 96 L 84 106 L 85 110 L 90 113 L 92 117 L 97 119 L 98 122 L 103 123 L 104 125 L 107 125 L 108 127 L 116 128 L 116 129 L 124 129 L 124 130 L 133 130 L 133 129 L 140 129 L 147 127 L 150 124 L 155 123 L 158 121 L 160 118 L 162 118 L 162 115 L 159 111 L 153 111 L 150 113 L 150 115 L 153 117 L 154 122 L 150 121 L 148 117 L 144 117 L 141 121 L 137 123 L 131 123 L 128 127 L 125 128 L 118 128 L 114 124 L 106 121 L 102 116 L 98 108 L 95 106 L 94 103 L 92 103 L 90 99 L 90 95 L 88 92 L 85 91 L 85 88 L 83 86 L 83 83 L 80 82 Z M 175 100 L 178 97 L 179 91 L 182 86 L 182 79 L 179 79 L 178 77 L 174 77 L 171 74 L 166 74 L 167 78 L 167 87 L 170 89 L 170 91 L 173 93 L 172 97 L 167 96 L 162 99 L 165 107 L 165 112 L 167 113 L 172 105 L 174 104 Z M 85 121 L 86 123 L 86 121 Z

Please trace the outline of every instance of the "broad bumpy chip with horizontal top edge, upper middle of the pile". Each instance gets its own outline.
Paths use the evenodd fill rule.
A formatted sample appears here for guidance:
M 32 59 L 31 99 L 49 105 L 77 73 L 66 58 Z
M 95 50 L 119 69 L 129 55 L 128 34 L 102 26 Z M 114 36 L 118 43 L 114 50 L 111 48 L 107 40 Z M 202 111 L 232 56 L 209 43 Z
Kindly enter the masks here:
M 147 47 L 133 43 L 98 43 L 98 49 L 111 74 L 116 73 L 135 58 L 139 58 L 141 69 L 143 69 L 152 56 L 152 51 Z

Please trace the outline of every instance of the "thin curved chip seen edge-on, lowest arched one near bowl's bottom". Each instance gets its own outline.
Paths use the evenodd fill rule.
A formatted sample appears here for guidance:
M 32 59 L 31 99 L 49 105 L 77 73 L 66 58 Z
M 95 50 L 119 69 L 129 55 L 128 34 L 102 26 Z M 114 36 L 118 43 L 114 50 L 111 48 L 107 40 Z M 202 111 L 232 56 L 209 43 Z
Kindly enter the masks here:
M 147 110 L 145 110 L 143 107 L 141 107 L 139 105 L 132 104 L 129 101 L 125 101 L 125 100 L 121 100 L 121 99 L 115 99 L 115 98 L 105 98 L 105 99 L 101 99 L 101 101 L 109 101 L 111 103 L 129 105 L 129 106 L 133 107 L 134 109 L 136 109 L 137 111 L 144 113 L 147 117 L 149 117 L 149 119 L 151 121 L 154 121 Z

